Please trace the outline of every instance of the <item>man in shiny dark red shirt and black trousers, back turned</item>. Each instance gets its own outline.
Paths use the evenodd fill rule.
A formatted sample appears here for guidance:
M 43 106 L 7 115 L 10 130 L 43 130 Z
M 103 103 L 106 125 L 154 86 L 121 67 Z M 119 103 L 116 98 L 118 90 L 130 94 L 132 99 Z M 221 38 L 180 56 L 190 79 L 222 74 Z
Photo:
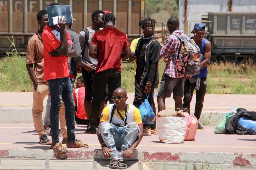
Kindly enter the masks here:
M 130 44 L 125 33 L 115 28 L 114 14 L 104 14 L 102 17 L 104 28 L 92 36 L 89 56 L 98 59 L 96 72 L 92 83 L 92 107 L 89 128 L 87 133 L 96 133 L 97 118 L 100 103 L 108 85 L 109 99 L 115 89 L 121 86 L 121 62 L 131 56 Z M 95 53 L 97 50 L 97 54 Z M 124 54 L 122 51 L 124 50 Z M 114 103 L 114 101 L 110 101 Z

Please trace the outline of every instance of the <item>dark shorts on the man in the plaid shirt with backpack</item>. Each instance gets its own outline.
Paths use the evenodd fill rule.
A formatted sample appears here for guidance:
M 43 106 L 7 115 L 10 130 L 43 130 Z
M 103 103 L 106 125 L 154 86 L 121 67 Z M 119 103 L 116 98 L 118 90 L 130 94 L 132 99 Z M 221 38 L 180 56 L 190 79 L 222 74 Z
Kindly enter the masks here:
M 157 96 L 159 97 L 183 97 L 185 78 L 172 78 L 169 75 L 162 77 Z

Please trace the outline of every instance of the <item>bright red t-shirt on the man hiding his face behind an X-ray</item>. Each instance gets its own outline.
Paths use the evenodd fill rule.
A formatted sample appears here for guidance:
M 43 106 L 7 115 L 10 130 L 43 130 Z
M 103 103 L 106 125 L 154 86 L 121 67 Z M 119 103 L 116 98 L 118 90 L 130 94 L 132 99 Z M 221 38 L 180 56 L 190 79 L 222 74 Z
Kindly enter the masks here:
M 68 43 L 73 44 L 67 30 L 66 36 Z M 68 77 L 68 57 L 63 55 L 51 57 L 51 55 L 48 54 L 60 47 L 60 32 L 46 25 L 42 33 L 42 39 L 44 43 L 44 80 Z

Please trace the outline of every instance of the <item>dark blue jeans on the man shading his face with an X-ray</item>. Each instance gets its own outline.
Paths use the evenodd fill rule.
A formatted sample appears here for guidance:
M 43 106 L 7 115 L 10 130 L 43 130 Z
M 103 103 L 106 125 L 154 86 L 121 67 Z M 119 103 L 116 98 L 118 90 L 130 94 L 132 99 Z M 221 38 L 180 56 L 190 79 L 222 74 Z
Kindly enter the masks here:
M 67 124 L 68 141 L 76 140 L 74 108 L 75 102 L 72 95 L 72 85 L 70 78 L 56 78 L 48 80 L 49 91 L 51 95 L 50 123 L 51 123 L 51 141 L 59 141 L 59 110 L 61 99 L 65 106 L 65 119 Z

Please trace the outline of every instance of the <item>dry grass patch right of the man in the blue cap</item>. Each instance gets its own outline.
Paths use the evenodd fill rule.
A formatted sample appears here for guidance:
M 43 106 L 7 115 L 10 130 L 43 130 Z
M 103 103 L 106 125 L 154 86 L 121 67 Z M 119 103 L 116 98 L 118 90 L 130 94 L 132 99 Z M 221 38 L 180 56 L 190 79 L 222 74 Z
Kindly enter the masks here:
M 208 66 L 207 93 L 256 94 L 256 65 L 251 62 L 211 63 Z

